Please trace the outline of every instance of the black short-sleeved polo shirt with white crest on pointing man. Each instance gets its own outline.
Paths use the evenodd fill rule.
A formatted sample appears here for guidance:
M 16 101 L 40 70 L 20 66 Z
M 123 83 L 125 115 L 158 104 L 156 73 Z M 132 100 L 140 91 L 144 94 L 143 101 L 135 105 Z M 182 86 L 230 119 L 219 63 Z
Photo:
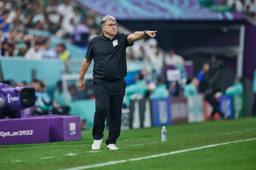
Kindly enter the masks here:
M 92 60 L 93 77 L 107 81 L 115 81 L 127 75 L 126 48 L 129 34 L 118 33 L 110 40 L 104 36 L 94 37 L 89 43 L 85 58 Z

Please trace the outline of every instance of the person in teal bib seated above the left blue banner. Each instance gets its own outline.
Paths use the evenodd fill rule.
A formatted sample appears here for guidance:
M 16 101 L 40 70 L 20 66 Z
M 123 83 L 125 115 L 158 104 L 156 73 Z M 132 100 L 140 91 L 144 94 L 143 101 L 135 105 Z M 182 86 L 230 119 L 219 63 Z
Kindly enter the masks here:
M 150 94 L 149 99 L 164 99 L 169 96 L 165 78 L 159 76 L 156 81 L 156 89 Z

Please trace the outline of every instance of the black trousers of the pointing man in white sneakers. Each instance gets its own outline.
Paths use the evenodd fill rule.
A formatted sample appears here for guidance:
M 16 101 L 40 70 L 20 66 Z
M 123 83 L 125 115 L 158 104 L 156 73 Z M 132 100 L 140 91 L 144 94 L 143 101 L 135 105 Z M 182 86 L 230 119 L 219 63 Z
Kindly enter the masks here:
M 99 78 L 93 78 L 95 114 L 92 136 L 96 140 L 103 138 L 106 115 L 109 113 L 107 145 L 116 144 L 116 139 L 120 136 L 125 87 L 126 82 L 124 79 L 109 82 Z

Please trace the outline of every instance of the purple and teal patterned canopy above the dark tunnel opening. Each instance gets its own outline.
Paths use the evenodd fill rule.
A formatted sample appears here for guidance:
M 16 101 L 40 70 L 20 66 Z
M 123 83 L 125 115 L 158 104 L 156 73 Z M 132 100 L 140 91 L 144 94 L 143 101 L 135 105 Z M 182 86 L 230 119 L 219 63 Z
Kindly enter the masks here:
M 236 11 L 218 12 L 218 5 L 206 8 L 199 0 L 77 0 L 102 16 L 118 20 L 244 20 Z M 203 0 L 205 1 L 205 0 Z M 211 11 L 210 9 L 217 9 Z M 220 9 L 220 8 L 219 8 Z

